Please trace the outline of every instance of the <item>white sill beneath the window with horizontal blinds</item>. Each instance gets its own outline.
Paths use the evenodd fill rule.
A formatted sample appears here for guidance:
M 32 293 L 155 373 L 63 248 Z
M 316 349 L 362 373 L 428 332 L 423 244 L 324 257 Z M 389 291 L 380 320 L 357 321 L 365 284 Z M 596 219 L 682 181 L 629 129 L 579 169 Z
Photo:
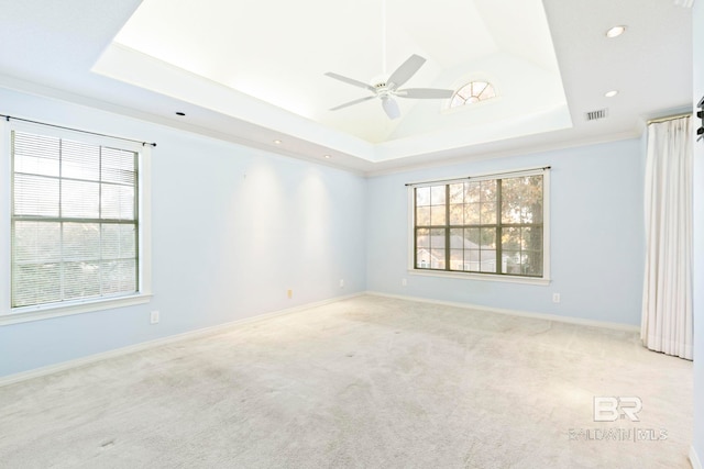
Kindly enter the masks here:
M 12 312 L 3 312 L 2 314 L 0 314 L 0 326 L 7 324 L 48 320 L 52 317 L 69 316 L 74 314 L 91 313 L 95 311 L 112 310 L 114 308 L 133 306 L 135 304 L 148 303 L 151 300 L 151 293 L 141 293 L 131 297 L 84 300 L 52 305 L 16 308 Z

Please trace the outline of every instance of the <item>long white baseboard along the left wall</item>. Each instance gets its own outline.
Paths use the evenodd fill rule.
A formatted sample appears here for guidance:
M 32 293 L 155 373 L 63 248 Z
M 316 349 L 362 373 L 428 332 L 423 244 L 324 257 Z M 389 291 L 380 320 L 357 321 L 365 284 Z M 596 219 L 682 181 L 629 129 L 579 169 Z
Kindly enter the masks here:
M 329 303 L 334 303 L 337 301 L 348 300 L 350 298 L 364 295 L 365 292 L 346 294 L 343 297 L 334 297 L 328 300 L 316 301 L 312 303 L 299 304 L 293 308 L 286 308 L 284 310 L 272 311 L 270 313 L 257 314 L 252 317 L 245 317 L 242 320 L 231 321 L 223 324 L 218 324 L 215 326 L 202 327 L 195 331 L 185 332 L 182 334 L 169 335 L 168 337 L 157 338 L 155 340 L 142 342 L 140 344 L 129 345 L 127 347 L 116 348 L 108 351 L 102 351 L 100 354 L 89 355 L 87 357 L 77 358 L 75 360 L 62 361 L 59 364 L 50 365 L 42 368 L 35 368 L 29 371 L 22 371 L 19 373 L 8 375 L 4 377 L 0 377 L 0 388 L 3 386 L 14 384 L 20 381 L 26 381 L 33 378 L 40 378 L 47 375 L 53 375 L 59 371 L 69 370 L 72 368 L 78 368 L 85 365 L 95 364 L 96 361 L 106 360 L 108 358 L 119 357 L 127 354 L 132 354 L 135 351 L 142 351 L 147 348 L 158 347 L 162 345 L 173 344 L 179 340 L 186 340 L 189 338 L 202 337 L 207 335 L 219 334 L 221 332 L 226 332 L 228 330 L 239 327 L 244 324 L 255 323 L 260 321 L 265 321 L 271 317 L 283 316 L 286 314 L 297 313 L 302 310 L 307 310 L 310 308 L 322 306 Z

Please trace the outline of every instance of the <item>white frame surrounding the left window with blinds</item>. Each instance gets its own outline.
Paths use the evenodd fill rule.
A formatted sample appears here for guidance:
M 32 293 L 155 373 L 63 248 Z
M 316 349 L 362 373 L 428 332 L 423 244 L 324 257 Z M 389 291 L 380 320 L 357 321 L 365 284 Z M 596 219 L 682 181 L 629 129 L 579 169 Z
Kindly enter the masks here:
M 123 294 L 105 298 L 87 298 L 79 300 L 44 303 L 29 306 L 11 306 L 12 282 L 12 234 L 11 210 L 13 197 L 13 161 L 11 132 L 25 132 L 37 135 L 46 135 L 81 143 L 97 144 L 136 152 L 138 156 L 138 291 L 133 294 Z M 152 298 L 152 253 L 151 253 L 151 146 L 139 143 L 52 127 L 42 124 L 32 124 L 20 121 L 0 121 L 0 152 L 2 164 L 0 165 L 0 180 L 3 182 L 3 197 L 0 198 L 0 259 L 3 264 L 2 281 L 0 282 L 0 325 L 14 324 L 29 321 L 37 321 L 50 317 L 81 314 L 114 308 L 123 308 L 143 304 Z

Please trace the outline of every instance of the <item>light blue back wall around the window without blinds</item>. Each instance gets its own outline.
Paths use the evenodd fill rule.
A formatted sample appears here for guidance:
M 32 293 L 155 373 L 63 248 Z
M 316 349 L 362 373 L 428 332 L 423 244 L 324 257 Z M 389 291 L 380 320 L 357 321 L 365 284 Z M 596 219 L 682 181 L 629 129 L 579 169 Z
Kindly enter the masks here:
M 371 178 L 369 290 L 638 325 L 644 161 L 641 142 L 628 139 Z M 550 286 L 409 275 L 406 182 L 542 166 L 552 167 Z

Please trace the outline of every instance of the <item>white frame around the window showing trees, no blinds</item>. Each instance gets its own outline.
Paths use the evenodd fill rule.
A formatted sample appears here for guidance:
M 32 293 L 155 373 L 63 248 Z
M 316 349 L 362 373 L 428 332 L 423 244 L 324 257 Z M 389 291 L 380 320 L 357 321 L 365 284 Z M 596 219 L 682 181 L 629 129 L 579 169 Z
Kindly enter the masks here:
M 493 273 L 493 272 L 469 272 L 461 270 L 441 270 L 441 269 L 420 269 L 416 267 L 416 198 L 415 189 L 431 186 L 448 186 L 458 182 L 473 182 L 495 179 L 509 179 L 514 177 L 542 175 L 542 277 L 517 276 L 510 273 Z M 459 177 L 442 180 L 429 180 L 421 182 L 413 182 L 407 186 L 408 197 L 408 259 L 407 271 L 413 276 L 440 277 L 440 278 L 458 278 L 484 281 L 499 281 L 510 283 L 528 283 L 528 284 L 549 284 L 550 277 L 550 167 L 515 169 L 493 174 L 479 174 L 471 177 Z M 447 225 L 449 226 L 449 225 Z M 501 239 L 497 239 L 501 243 Z

